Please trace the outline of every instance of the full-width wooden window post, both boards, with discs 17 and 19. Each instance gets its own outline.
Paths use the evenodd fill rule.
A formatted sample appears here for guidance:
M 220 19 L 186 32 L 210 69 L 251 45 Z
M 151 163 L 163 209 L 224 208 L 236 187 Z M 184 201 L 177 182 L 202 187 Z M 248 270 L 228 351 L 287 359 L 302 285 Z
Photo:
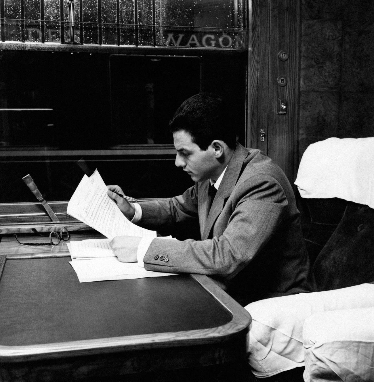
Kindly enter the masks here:
M 299 129 L 300 1 L 253 2 L 251 127 L 249 143 L 267 153 L 293 182 L 296 177 Z M 288 60 L 281 61 L 280 50 Z M 278 76 L 287 79 L 279 86 Z M 288 103 L 277 114 L 280 99 Z M 260 129 L 265 141 L 260 141 Z

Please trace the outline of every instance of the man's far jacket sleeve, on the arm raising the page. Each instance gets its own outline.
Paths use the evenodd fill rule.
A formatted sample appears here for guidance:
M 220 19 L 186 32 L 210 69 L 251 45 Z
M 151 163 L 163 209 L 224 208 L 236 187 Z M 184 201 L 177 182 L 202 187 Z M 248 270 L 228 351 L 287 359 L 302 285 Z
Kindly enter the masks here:
M 138 225 L 156 230 L 162 236 L 199 238 L 197 189 L 196 183 L 182 195 L 140 202 L 142 217 Z

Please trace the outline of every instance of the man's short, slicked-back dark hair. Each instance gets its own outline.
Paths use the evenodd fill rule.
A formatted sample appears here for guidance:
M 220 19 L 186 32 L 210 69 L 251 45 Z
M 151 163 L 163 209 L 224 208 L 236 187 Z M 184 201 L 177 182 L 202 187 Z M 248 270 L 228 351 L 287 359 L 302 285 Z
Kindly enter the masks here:
M 184 130 L 200 149 L 207 150 L 215 139 L 236 147 L 235 126 L 229 123 L 229 104 L 217 94 L 198 93 L 179 106 L 169 122 L 172 133 Z

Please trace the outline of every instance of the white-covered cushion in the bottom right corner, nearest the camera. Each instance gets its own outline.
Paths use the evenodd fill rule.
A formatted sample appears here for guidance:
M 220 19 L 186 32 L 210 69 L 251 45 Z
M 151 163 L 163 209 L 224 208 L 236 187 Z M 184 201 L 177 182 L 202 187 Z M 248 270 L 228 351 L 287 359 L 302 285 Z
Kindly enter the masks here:
M 374 380 L 374 307 L 319 312 L 304 322 L 304 381 Z

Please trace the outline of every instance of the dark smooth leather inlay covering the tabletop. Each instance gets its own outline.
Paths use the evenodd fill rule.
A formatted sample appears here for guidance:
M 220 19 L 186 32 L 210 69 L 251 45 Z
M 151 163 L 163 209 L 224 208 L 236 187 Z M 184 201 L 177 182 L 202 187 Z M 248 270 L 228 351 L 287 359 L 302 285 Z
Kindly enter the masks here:
M 69 260 L 7 260 L 0 345 L 205 329 L 231 320 L 189 275 L 80 283 Z

